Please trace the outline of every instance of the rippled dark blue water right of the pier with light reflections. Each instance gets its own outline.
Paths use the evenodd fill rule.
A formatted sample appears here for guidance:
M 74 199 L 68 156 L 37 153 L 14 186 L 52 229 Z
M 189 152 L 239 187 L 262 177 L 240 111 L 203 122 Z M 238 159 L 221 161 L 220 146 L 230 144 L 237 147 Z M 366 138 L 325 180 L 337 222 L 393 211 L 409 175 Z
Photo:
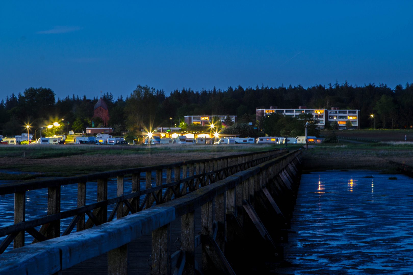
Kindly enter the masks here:
M 364 178 L 373 176 L 373 178 Z M 397 180 L 389 180 L 396 176 Z M 413 179 L 372 171 L 302 176 L 279 274 L 413 274 Z M 291 263 L 292 266 L 289 264 Z

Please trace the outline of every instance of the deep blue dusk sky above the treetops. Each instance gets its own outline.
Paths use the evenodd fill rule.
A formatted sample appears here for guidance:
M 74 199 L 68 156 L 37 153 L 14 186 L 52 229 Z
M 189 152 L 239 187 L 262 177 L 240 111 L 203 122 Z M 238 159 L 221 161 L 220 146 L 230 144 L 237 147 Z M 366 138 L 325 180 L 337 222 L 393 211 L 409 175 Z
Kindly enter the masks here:
M 411 1 L 85 2 L 0 2 L 0 99 L 413 81 Z

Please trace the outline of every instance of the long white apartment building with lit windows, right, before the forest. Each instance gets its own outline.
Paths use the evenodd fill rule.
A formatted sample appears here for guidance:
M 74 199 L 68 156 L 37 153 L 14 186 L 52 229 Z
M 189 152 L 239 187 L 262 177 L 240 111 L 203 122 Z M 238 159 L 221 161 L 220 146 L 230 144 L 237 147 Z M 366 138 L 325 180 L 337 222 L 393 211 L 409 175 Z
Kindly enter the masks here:
M 338 129 L 347 129 L 346 122 L 350 120 L 353 126 L 350 129 L 360 129 L 359 114 L 360 110 L 342 110 L 337 107 L 328 109 L 307 108 L 306 106 L 299 106 L 297 109 L 280 109 L 277 106 L 271 106 L 269 109 L 256 109 L 257 119 L 260 116 L 266 116 L 272 113 L 280 113 L 282 115 L 300 115 L 311 114 L 317 120 L 318 127 L 324 128 L 326 122 L 331 123 L 337 121 Z

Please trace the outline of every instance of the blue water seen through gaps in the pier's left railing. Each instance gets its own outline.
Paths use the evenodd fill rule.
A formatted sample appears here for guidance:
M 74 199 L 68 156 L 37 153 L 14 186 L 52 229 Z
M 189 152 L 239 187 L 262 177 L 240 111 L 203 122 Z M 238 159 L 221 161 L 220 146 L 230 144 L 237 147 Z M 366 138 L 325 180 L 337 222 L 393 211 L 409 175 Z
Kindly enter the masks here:
M 155 186 L 154 178 L 156 172 L 152 172 L 152 187 Z M 182 178 L 182 172 L 181 172 Z M 162 174 L 162 182 L 166 183 L 166 171 Z M 141 173 L 141 178 L 145 178 L 145 173 Z M 172 171 L 172 181 L 174 181 L 174 173 Z M 181 185 L 182 186 L 182 185 Z M 140 189 L 144 190 L 145 181 L 140 181 Z M 128 194 L 132 192 L 132 181 L 131 178 L 124 179 L 123 193 Z M 77 184 L 61 186 L 61 205 L 60 211 L 66 211 L 74 209 L 77 207 Z M 165 193 L 165 190 L 163 190 Z M 116 197 L 116 179 L 109 179 L 107 182 L 107 197 L 113 198 Z M 86 204 L 91 204 L 96 202 L 97 198 L 97 182 L 88 182 L 86 184 Z M 140 202 L 142 202 L 144 196 L 140 197 Z M 109 217 L 114 204 L 108 205 L 107 207 L 107 216 Z M 47 188 L 32 190 L 26 192 L 26 221 L 31 221 L 34 219 L 47 216 Z M 88 216 L 85 217 L 86 219 Z M 61 220 L 60 225 L 60 234 L 69 226 L 69 223 L 73 217 L 69 217 Z M 115 217 L 116 219 L 116 217 Z M 14 194 L 0 195 L 0 227 L 10 226 L 14 224 Z M 40 226 L 36 228 L 40 229 Z M 76 232 L 76 226 L 72 230 Z M 0 237 L 0 243 L 5 239 L 5 237 Z M 25 245 L 31 244 L 33 237 L 25 232 Z M 13 248 L 13 243 L 7 247 L 6 251 L 9 251 Z

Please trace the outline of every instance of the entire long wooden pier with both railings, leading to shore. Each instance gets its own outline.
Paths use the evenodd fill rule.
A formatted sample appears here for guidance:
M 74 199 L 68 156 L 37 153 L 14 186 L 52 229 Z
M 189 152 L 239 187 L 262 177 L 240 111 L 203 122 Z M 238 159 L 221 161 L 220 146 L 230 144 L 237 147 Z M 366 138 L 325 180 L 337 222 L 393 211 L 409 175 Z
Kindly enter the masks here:
M 123 194 L 127 174 L 132 193 Z M 15 194 L 15 224 L 0 228 L 7 235 L 0 252 L 13 240 L 15 249 L 0 255 L 0 274 L 241 274 L 282 260 L 278 244 L 287 241 L 300 176 L 300 150 L 271 150 L 3 185 L 0 194 Z M 108 199 L 113 177 L 117 197 Z M 85 205 L 85 186 L 95 180 L 97 202 Z M 78 208 L 60 212 L 66 184 L 78 184 Z M 48 188 L 48 215 L 25 221 L 25 192 L 39 188 Z M 73 219 L 60 236 L 66 217 Z M 24 246 L 24 230 L 33 244 Z

